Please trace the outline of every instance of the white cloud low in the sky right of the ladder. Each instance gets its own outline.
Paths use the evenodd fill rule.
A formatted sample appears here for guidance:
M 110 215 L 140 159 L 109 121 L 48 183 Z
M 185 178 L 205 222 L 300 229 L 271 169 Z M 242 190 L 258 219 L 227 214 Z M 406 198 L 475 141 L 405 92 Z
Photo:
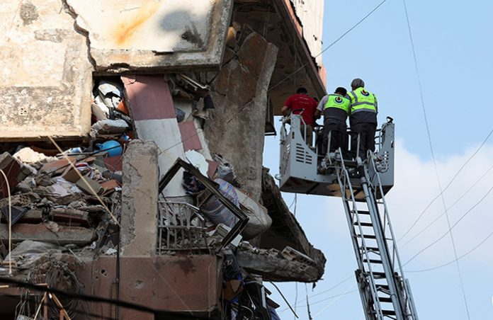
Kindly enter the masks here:
M 438 176 L 441 180 L 442 188 L 445 188 L 453 178 L 458 169 L 463 166 L 470 155 L 475 152 L 476 147 L 467 149 L 463 154 L 455 154 L 446 159 L 437 160 Z M 453 205 L 463 193 L 470 188 L 480 177 L 492 166 L 493 147 L 485 145 L 480 152 L 463 168 L 450 187 L 443 193 L 447 207 Z M 429 205 L 429 202 L 439 194 L 436 171 L 433 161 L 419 159 L 405 148 L 402 140 L 396 142 L 395 159 L 395 187 L 387 195 L 387 202 L 390 207 L 392 222 L 397 234 L 397 238 L 407 232 L 407 229 L 418 219 L 421 212 Z M 493 186 L 493 170 L 475 185 L 464 198 L 448 210 L 450 224 L 460 219 L 462 215 L 470 210 Z M 493 215 L 493 192 L 487 195 L 477 207 L 471 210 L 456 227 L 453 228 L 453 236 L 458 256 L 469 251 L 472 247 L 484 239 L 492 232 Z M 404 245 L 407 240 L 420 232 L 424 227 L 431 223 L 436 217 L 444 212 L 442 198 L 439 197 L 423 217 L 416 224 L 414 229 L 399 243 L 403 262 L 414 256 L 415 253 L 425 248 L 431 242 L 436 241 L 440 236 L 448 232 L 446 215 L 443 215 L 426 232 L 413 239 L 409 244 Z M 493 237 L 492 237 L 493 238 Z M 493 239 L 492 239 L 493 240 Z M 469 258 L 474 258 L 477 262 L 492 263 L 492 257 L 487 254 L 487 244 L 478 248 L 478 252 L 485 254 L 473 254 Z M 440 263 L 446 263 L 453 259 L 453 248 L 450 236 L 447 235 L 437 244 L 431 246 L 419 255 L 409 268 L 426 268 Z

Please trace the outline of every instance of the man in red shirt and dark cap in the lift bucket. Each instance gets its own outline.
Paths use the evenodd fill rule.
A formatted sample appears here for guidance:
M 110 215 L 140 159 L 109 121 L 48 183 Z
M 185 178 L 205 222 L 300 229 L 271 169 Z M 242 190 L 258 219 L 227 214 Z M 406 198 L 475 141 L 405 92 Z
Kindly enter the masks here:
M 288 100 L 284 103 L 283 108 L 280 109 L 280 112 L 283 113 L 283 115 L 289 115 L 291 112 L 295 115 L 299 115 L 301 113 L 307 130 L 305 141 L 310 147 L 312 147 L 313 127 L 315 125 L 314 113 L 315 110 L 317 110 L 317 105 L 317 101 L 308 96 L 307 89 L 301 87 L 297 89 L 296 94 L 293 94 L 293 96 L 288 98 Z M 305 124 L 303 122 L 301 123 L 302 135 L 305 133 Z

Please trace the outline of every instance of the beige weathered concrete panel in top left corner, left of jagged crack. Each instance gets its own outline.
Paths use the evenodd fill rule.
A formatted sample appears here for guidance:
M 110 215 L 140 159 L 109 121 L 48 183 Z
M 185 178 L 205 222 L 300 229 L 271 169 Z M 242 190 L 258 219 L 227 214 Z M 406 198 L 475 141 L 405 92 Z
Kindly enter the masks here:
M 59 0 L 0 7 L 0 141 L 89 133 L 86 37 Z

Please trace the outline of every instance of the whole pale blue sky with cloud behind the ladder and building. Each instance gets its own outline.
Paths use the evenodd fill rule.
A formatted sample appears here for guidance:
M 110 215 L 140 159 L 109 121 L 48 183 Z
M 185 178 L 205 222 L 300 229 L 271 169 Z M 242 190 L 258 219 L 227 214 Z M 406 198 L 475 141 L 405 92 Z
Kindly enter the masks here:
M 378 0 L 325 1 L 324 45 L 338 38 L 379 3 Z M 493 74 L 489 40 L 493 34 L 493 4 L 490 1 L 417 0 L 408 1 L 407 7 L 438 176 L 441 184 L 446 185 L 493 129 L 493 110 L 489 103 L 489 81 Z M 366 88 L 379 98 L 380 122 L 386 115 L 395 119 L 396 183 L 387 201 L 399 239 L 439 193 L 402 1 L 387 0 L 372 16 L 324 52 L 324 64 L 329 92 L 336 86 L 348 88 L 351 79 L 360 77 Z M 278 173 L 278 137 L 266 137 L 264 149 L 264 166 L 271 168 L 271 173 Z M 493 186 L 493 170 L 486 172 L 493 164 L 492 159 L 493 137 L 444 193 L 447 207 L 460 199 L 448 210 L 452 224 L 466 214 L 453 229 L 459 256 L 493 231 L 493 194 L 488 193 Z M 284 196 L 288 203 L 293 199 L 292 194 Z M 408 261 L 448 231 L 446 219 L 441 217 L 409 241 L 442 212 L 443 204 L 439 199 L 399 242 L 402 261 Z M 353 292 L 357 288 L 351 277 L 356 258 L 341 200 L 299 195 L 297 218 L 310 241 L 327 257 L 324 280 L 313 291 L 309 286 L 312 316 L 317 320 L 363 319 L 359 294 Z M 493 236 L 459 261 L 470 319 L 493 319 L 492 246 Z M 467 319 L 455 263 L 433 271 L 412 272 L 453 261 L 453 257 L 450 236 L 446 236 L 404 267 L 419 319 Z M 351 279 L 331 289 L 348 277 Z M 285 283 L 280 287 L 294 305 L 295 284 Z M 306 303 L 302 301 L 305 285 L 297 287 L 297 312 L 300 319 L 307 319 Z M 274 297 L 282 304 L 279 310 L 285 309 L 280 296 Z M 293 319 L 288 310 L 280 316 L 283 320 Z

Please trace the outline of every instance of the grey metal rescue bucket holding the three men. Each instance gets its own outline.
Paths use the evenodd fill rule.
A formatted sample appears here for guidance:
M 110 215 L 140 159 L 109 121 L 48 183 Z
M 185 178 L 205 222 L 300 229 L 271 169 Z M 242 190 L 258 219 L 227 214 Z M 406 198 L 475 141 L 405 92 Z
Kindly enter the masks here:
M 390 119 L 390 118 L 387 118 Z M 320 164 L 325 155 L 319 154 L 318 148 L 321 144 L 317 143 L 316 148 L 309 147 L 303 139 L 302 117 L 300 115 L 290 115 L 283 118 L 283 125 L 280 130 L 280 166 L 279 180 L 280 190 L 287 193 L 305 193 L 308 195 L 329 195 L 341 197 L 341 189 L 337 181 L 335 168 L 340 161 L 331 160 L 328 170 L 320 170 Z M 289 132 L 286 125 L 290 122 Z M 377 178 L 375 171 L 380 175 L 382 190 L 384 194 L 394 185 L 394 129 L 395 125 L 390 119 L 377 130 L 375 135 L 375 154 L 373 162 L 368 164 L 368 171 L 372 182 Z M 319 137 L 322 139 L 322 137 Z M 337 164 L 339 162 L 339 164 Z M 361 188 L 356 170 L 356 161 L 344 159 L 344 166 L 348 171 L 353 171 L 351 183 L 355 186 L 357 200 L 363 200 L 364 195 Z M 348 192 L 348 190 L 346 190 Z M 378 194 L 377 198 L 381 198 Z

